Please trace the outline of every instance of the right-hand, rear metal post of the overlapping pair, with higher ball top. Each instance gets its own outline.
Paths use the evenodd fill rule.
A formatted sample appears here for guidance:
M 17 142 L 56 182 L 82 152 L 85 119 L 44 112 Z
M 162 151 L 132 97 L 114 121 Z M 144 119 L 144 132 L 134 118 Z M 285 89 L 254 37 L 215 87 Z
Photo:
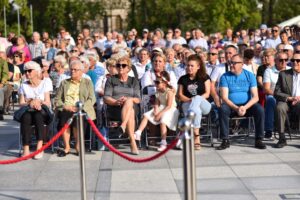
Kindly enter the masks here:
M 192 172 L 192 195 L 193 198 L 192 199 L 197 199 L 197 186 L 196 186 L 196 156 L 195 156 L 195 142 L 194 142 L 194 119 L 196 117 L 196 113 L 194 113 L 193 111 L 189 111 L 187 113 L 187 118 L 188 120 L 190 120 L 191 125 L 190 125 L 190 137 L 191 137 L 191 145 L 190 145 L 190 149 L 189 151 L 191 152 L 191 172 Z M 198 136 L 200 137 L 200 136 Z

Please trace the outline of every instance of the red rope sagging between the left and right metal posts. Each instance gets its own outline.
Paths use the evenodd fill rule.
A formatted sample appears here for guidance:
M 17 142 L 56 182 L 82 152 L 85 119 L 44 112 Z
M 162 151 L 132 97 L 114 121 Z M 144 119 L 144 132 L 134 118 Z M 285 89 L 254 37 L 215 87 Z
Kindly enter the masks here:
M 107 142 L 105 140 L 105 138 L 103 137 L 103 135 L 100 133 L 100 131 L 98 130 L 98 128 L 96 127 L 96 125 L 94 124 L 94 122 L 91 120 L 91 119 L 87 119 L 88 123 L 91 125 L 93 131 L 96 133 L 97 137 L 101 140 L 101 142 L 108 147 L 108 149 L 110 151 L 112 151 L 113 153 L 117 154 L 118 156 L 130 161 L 130 162 L 135 162 L 135 163 L 143 163 L 143 162 L 149 162 L 149 161 L 152 161 L 152 160 L 155 160 L 159 157 L 161 157 L 162 155 L 166 154 L 170 149 L 173 149 L 175 146 L 176 146 L 176 143 L 178 141 L 178 137 L 176 137 L 175 140 L 173 140 L 171 142 L 170 145 L 167 146 L 167 148 L 165 150 L 163 150 L 162 152 L 159 152 L 151 157 L 148 157 L 148 158 L 133 158 L 133 157 L 130 157 L 120 151 L 118 151 L 117 149 L 115 149 L 111 144 L 109 144 L 109 142 Z

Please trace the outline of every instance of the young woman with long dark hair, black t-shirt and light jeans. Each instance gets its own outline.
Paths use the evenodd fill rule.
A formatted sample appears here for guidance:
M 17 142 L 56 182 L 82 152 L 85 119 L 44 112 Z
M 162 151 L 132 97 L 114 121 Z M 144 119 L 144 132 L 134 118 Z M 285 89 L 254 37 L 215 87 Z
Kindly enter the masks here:
M 178 81 L 178 97 L 182 102 L 182 110 L 186 114 L 193 111 L 195 149 L 200 150 L 200 126 L 201 117 L 209 113 L 210 103 L 206 100 L 210 94 L 210 79 L 206 74 L 204 62 L 198 55 L 188 57 L 186 75 Z

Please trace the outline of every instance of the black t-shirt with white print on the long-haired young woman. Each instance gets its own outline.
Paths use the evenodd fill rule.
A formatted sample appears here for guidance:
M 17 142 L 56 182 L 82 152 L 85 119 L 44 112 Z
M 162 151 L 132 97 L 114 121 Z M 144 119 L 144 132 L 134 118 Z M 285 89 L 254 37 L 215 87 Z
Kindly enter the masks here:
M 209 76 L 206 74 L 205 80 L 198 80 L 197 78 L 191 80 L 189 75 L 181 76 L 178 80 L 178 84 L 183 86 L 183 95 L 192 98 L 196 95 L 202 95 L 205 93 L 205 81 L 209 80 Z

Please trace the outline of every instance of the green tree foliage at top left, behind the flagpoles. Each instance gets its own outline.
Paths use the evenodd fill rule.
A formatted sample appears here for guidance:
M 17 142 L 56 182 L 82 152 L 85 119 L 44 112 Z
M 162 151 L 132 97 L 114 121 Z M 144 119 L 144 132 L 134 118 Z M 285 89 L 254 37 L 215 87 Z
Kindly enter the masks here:
M 76 34 L 79 26 L 103 16 L 102 1 L 14 0 L 20 5 L 21 34 L 31 35 L 30 6 L 33 7 L 34 31 L 47 31 L 55 36 L 60 26 Z M 17 33 L 17 13 L 8 0 L 0 0 L 0 31 L 4 32 L 3 7 L 6 7 L 7 31 Z

